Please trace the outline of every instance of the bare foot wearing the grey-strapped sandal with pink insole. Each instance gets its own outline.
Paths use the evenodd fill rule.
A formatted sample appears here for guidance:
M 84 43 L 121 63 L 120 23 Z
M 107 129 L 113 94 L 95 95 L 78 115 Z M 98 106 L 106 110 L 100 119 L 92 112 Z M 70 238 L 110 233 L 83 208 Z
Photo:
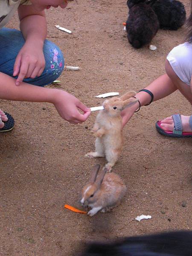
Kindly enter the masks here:
M 189 125 L 189 118 L 190 118 L 190 116 L 180 115 L 180 119 L 181 119 L 181 123 L 182 123 L 182 127 L 183 127 L 183 132 L 188 132 L 188 133 L 192 132 L 192 128 Z M 164 131 L 173 131 L 174 130 L 173 117 L 169 116 L 169 117 L 161 120 L 160 127 Z

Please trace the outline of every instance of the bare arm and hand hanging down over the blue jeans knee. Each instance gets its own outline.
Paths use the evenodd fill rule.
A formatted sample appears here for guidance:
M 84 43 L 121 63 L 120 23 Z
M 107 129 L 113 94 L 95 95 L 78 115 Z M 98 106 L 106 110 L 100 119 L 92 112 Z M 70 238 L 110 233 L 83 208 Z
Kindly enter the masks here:
M 47 35 L 44 11 L 35 11 L 32 5 L 21 5 L 18 8 L 18 15 L 20 30 L 26 41 L 15 60 L 13 76 L 18 76 L 16 85 L 25 77 L 41 76 L 45 67 L 43 47 Z

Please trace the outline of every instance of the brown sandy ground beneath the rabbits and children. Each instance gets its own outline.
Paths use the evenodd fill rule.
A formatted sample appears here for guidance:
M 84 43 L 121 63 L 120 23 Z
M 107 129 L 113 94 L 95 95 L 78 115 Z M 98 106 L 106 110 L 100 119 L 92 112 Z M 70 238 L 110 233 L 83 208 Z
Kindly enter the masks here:
M 188 16 L 189 1 L 182 2 Z M 61 83 L 49 87 L 92 107 L 102 103 L 93 98 L 97 94 L 137 91 L 163 74 L 166 55 L 183 42 L 185 29 L 159 30 L 152 42 L 156 51 L 137 50 L 123 31 L 127 15 L 122 0 L 78 0 L 65 10 L 47 11 L 48 39 L 61 47 L 67 65 L 81 67 L 64 71 Z M 8 26 L 18 28 L 17 15 Z M 125 180 L 127 194 L 113 212 L 93 218 L 64 204 L 81 209 L 79 192 L 91 167 L 105 164 L 84 157 L 94 149 L 90 129 L 96 113 L 75 126 L 48 103 L 1 100 L 0 106 L 15 118 L 15 128 L 0 134 L 0 256 L 76 255 L 81 241 L 192 229 L 192 139 L 170 139 L 155 130 L 158 119 L 191 113 L 180 93 L 142 107 L 125 126 L 124 149 L 113 171 Z M 136 221 L 141 214 L 152 218 Z

